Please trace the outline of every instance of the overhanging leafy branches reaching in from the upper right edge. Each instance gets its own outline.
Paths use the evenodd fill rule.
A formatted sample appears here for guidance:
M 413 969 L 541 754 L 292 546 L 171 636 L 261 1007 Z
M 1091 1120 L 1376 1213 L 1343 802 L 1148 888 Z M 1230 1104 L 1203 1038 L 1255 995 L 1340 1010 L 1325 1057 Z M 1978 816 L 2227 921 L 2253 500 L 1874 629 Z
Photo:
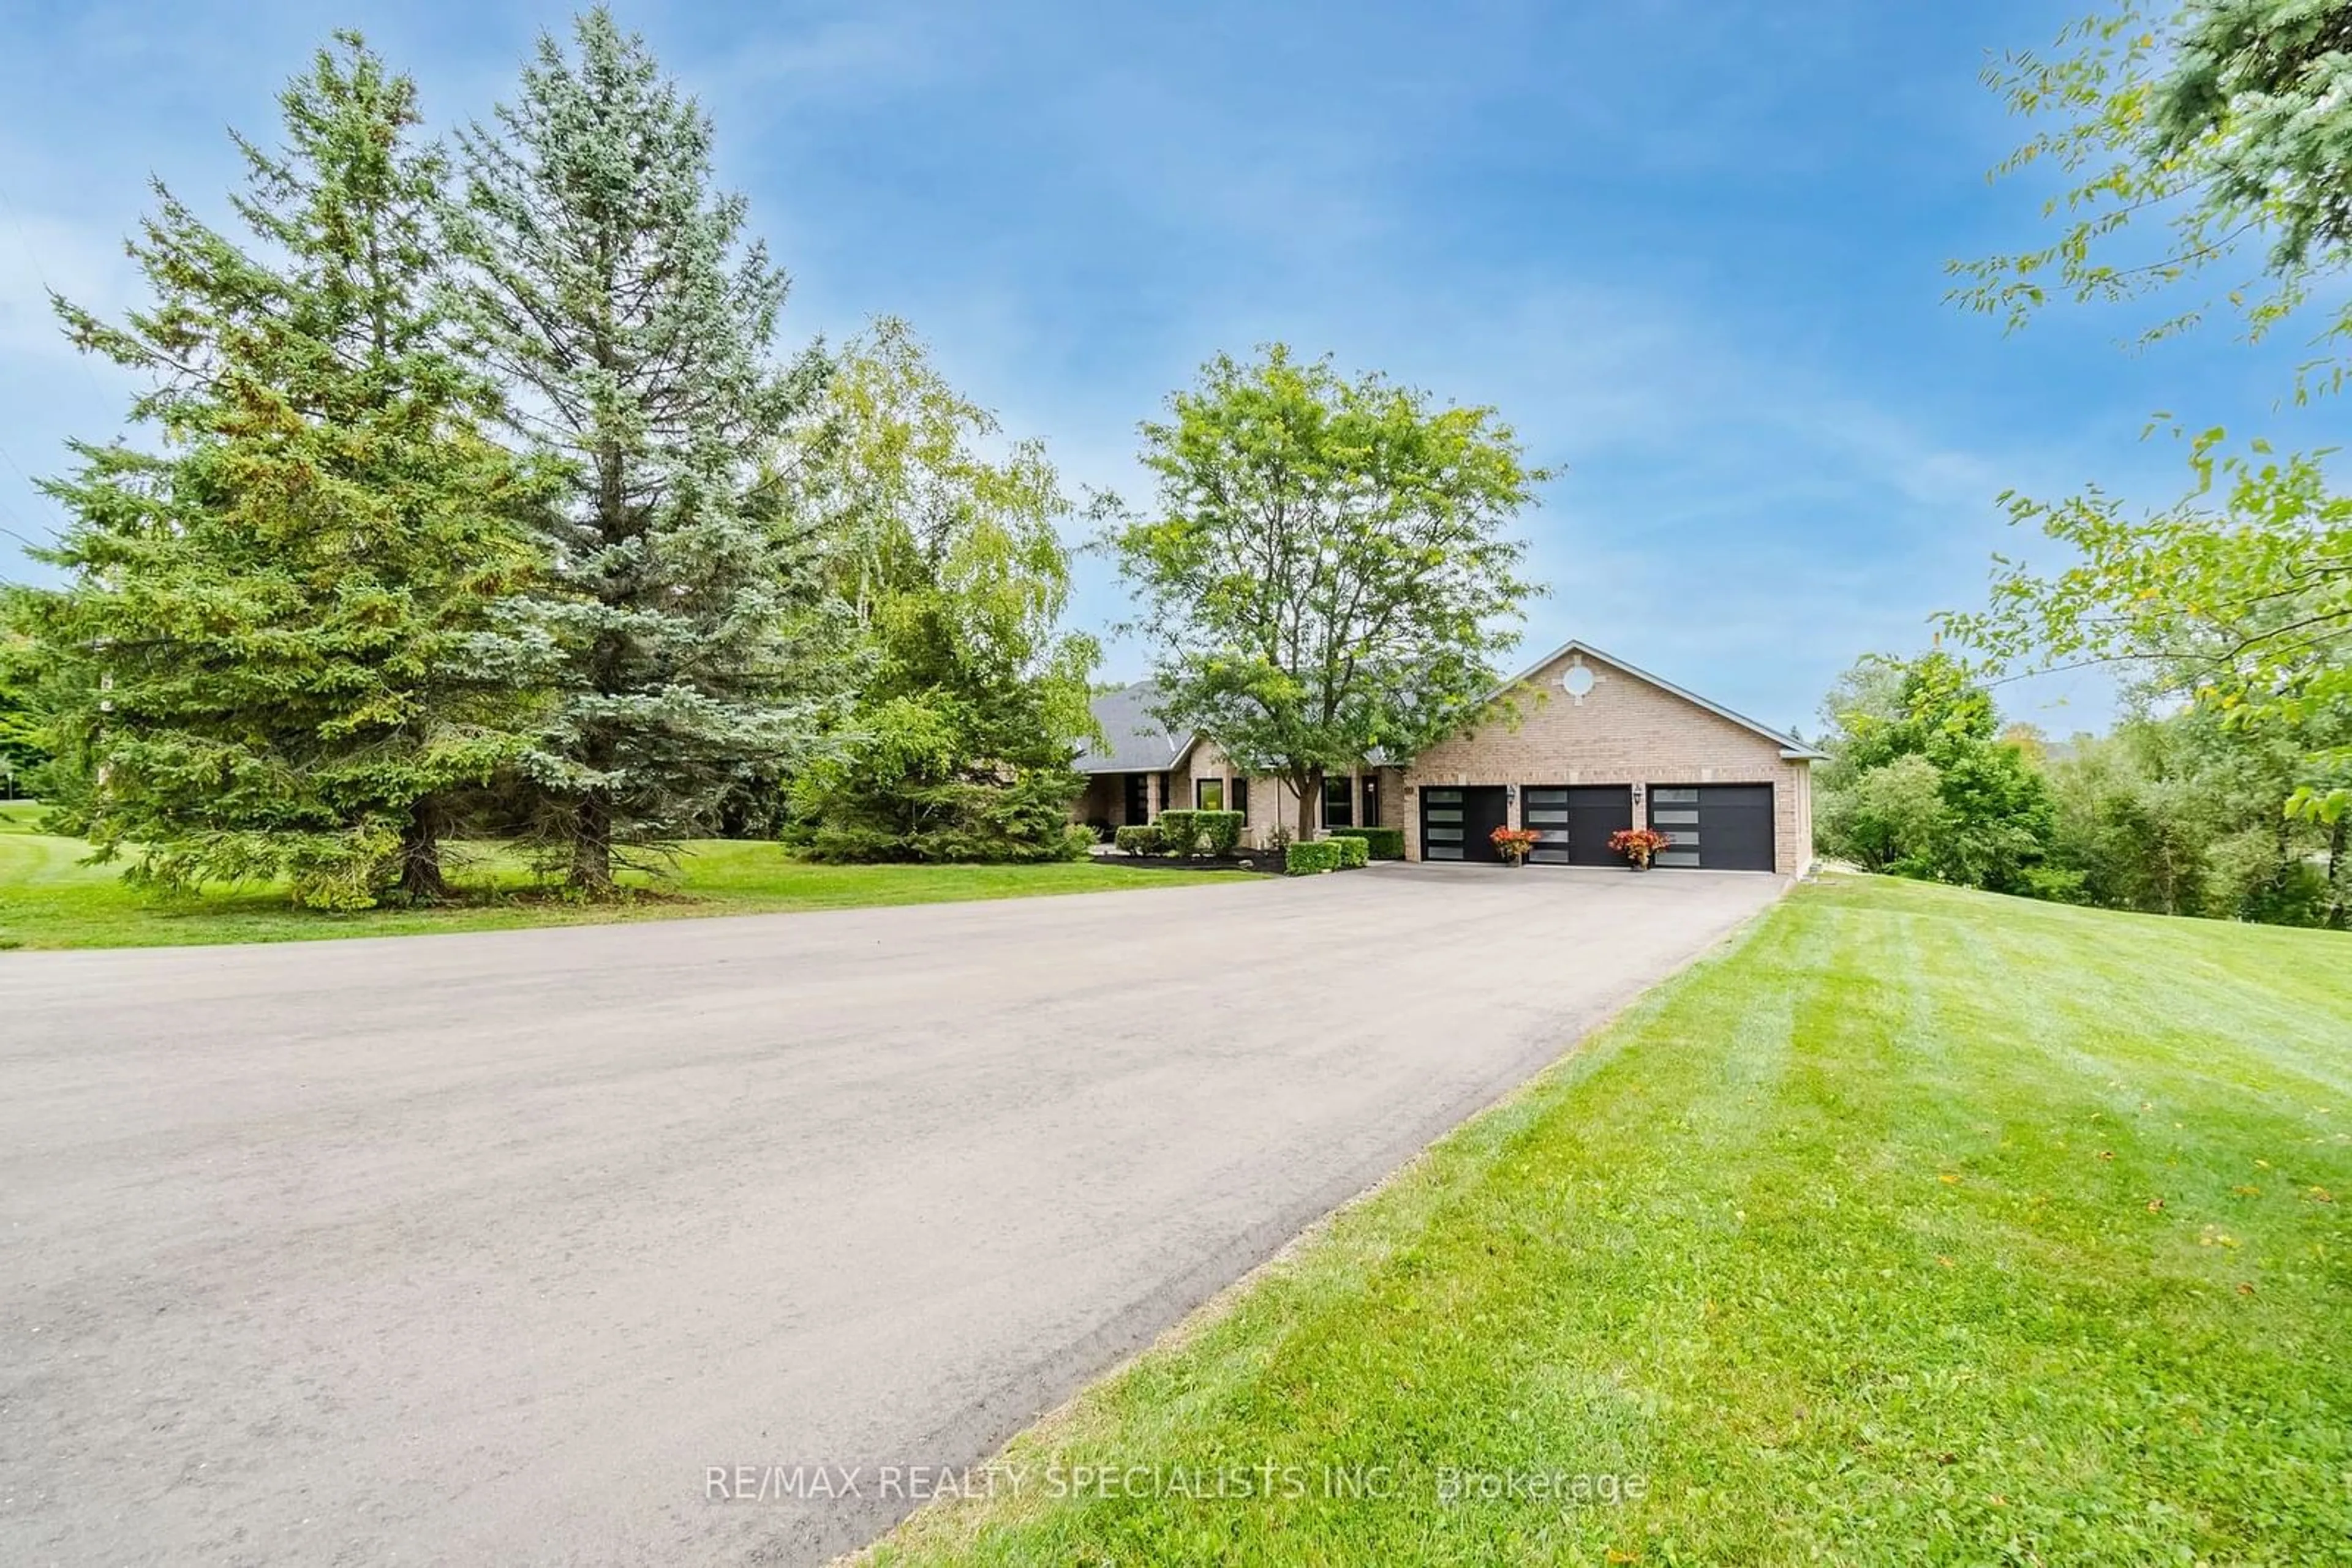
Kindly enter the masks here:
M 2011 108 L 2044 120 L 2002 167 L 2056 167 L 2056 237 L 1957 263 L 1955 296 L 2023 324 L 2056 299 L 2161 301 L 2157 341 L 2197 324 L 2218 282 L 2249 336 L 2321 308 L 2298 395 L 2343 386 L 2352 306 L 2352 2 L 2119 0 L 2070 28 L 2058 54 L 1987 71 Z M 2159 233 L 2150 237 L 2150 226 Z M 2133 517 L 2091 489 L 2009 496 L 2011 515 L 2072 545 L 2039 574 L 2002 562 L 1987 614 L 1947 630 L 2009 663 L 2114 661 L 2185 675 L 2185 693 L 2265 733 L 2310 733 L 2352 701 L 2352 510 L 2317 456 L 2190 442 L 2197 487 Z M 2352 811 L 2352 750 L 2307 757 L 2288 809 Z

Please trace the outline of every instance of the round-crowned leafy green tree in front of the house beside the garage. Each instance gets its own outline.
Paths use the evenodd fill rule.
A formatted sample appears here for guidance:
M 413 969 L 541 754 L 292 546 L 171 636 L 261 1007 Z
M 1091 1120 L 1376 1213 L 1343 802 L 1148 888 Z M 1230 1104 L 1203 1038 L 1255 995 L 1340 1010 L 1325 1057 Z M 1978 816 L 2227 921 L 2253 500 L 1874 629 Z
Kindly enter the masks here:
M 1145 607 L 1162 717 L 1289 780 L 1301 837 L 1327 769 L 1479 715 L 1541 592 L 1508 527 L 1550 477 L 1494 409 L 1277 343 L 1202 367 L 1143 425 L 1143 465 L 1152 515 L 1110 545 Z

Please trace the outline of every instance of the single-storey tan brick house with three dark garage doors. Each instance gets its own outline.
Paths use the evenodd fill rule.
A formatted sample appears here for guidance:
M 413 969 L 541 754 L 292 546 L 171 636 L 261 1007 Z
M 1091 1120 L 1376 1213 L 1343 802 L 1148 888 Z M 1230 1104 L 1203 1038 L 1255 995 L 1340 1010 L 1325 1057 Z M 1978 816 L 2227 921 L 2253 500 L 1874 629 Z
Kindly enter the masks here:
M 1080 752 L 1075 818 L 1096 830 L 1169 809 L 1240 811 L 1244 844 L 1268 846 L 1298 820 L 1291 788 L 1247 776 L 1211 736 L 1171 733 L 1150 715 L 1148 682 L 1094 703 L 1105 743 Z M 1813 860 L 1820 757 L 1599 649 L 1569 642 L 1503 682 L 1486 717 L 1411 762 L 1371 759 L 1324 780 L 1317 820 L 1395 827 L 1406 860 L 1503 863 L 1496 827 L 1536 835 L 1529 867 L 1616 865 L 1609 837 L 1653 827 L 1663 870 L 1795 877 Z

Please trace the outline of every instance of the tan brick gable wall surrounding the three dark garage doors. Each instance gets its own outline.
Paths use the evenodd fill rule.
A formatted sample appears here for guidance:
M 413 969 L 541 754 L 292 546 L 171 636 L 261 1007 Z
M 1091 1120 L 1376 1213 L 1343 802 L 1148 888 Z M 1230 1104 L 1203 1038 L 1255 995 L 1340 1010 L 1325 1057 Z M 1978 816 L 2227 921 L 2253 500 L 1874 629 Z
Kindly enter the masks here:
M 1468 736 L 1425 750 L 1404 769 L 1383 816 L 1404 827 L 1404 851 L 1421 858 L 1423 785 L 1632 785 L 1632 820 L 1649 820 L 1646 785 L 1769 783 L 1773 858 L 1783 877 L 1813 863 L 1813 778 L 1780 743 L 1710 712 L 1599 658 L 1592 691 L 1571 698 L 1559 658 L 1529 677 L 1519 724 L 1496 717 Z M 1517 806 L 1512 823 L 1519 820 Z

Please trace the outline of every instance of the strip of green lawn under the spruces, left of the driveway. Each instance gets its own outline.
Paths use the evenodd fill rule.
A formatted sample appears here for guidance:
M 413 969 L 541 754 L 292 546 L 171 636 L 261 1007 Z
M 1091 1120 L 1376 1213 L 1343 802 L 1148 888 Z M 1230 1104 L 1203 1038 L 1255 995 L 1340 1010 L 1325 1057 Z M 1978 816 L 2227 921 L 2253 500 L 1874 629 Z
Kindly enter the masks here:
M 687 844 L 677 879 L 666 884 L 661 896 L 635 903 L 569 905 L 539 898 L 513 856 L 470 851 L 468 867 L 459 872 L 459 882 L 470 891 L 468 903 L 445 910 L 322 914 L 296 910 L 270 889 L 223 889 L 193 903 L 160 903 L 122 886 L 118 867 L 82 865 L 89 846 L 38 832 L 40 816 L 40 806 L 0 802 L 0 947 L 294 943 L 332 936 L 1028 898 L 1232 877 L 1232 872 L 1162 872 L 1096 863 L 802 865 L 776 844 L 710 839 Z

